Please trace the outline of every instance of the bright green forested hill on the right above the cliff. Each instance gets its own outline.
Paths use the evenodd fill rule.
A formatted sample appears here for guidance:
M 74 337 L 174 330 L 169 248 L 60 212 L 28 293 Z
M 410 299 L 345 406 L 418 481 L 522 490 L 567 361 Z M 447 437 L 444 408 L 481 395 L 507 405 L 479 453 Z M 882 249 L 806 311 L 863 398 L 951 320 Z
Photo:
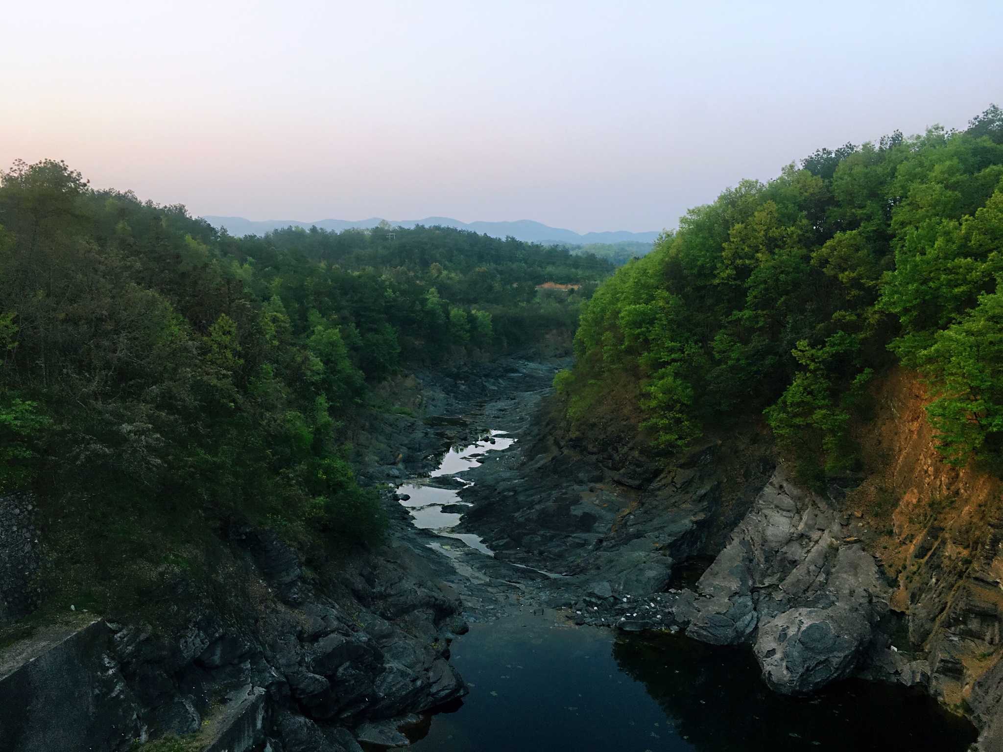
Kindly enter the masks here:
M 860 465 L 869 383 L 918 371 L 948 461 L 1003 457 L 1003 110 L 818 149 L 691 210 L 586 304 L 569 415 L 633 394 L 656 445 L 764 415 L 805 478 Z

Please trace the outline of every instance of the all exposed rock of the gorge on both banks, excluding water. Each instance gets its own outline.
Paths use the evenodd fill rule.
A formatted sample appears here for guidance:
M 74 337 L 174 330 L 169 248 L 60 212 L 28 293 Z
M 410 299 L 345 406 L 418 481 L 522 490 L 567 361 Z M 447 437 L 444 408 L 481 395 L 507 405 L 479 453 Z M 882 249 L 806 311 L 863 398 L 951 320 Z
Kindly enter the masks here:
M 812 490 L 754 427 L 676 456 L 616 422 L 576 433 L 550 388 L 564 362 L 527 354 L 383 385 L 398 409 L 353 437 L 360 475 L 385 489 L 381 545 L 331 559 L 234 529 L 217 568 L 240 608 L 168 568 L 170 618 L 155 624 L 73 610 L 12 632 L 3 748 L 124 750 L 165 734 L 213 752 L 402 746 L 468 691 L 453 638 L 527 612 L 747 645 L 779 693 L 851 676 L 923 687 L 981 729 L 979 750 L 1001 748 L 998 494 L 938 464 L 908 375 L 883 382 L 862 427 L 872 471 Z M 428 477 L 490 430 L 516 441 L 462 479 Z M 454 493 L 453 531 L 489 554 L 414 527 L 395 492 L 407 479 Z M 34 546 L 18 555 L 42 568 L 44 538 Z M 23 615 L 30 580 L 20 563 L 4 572 Z

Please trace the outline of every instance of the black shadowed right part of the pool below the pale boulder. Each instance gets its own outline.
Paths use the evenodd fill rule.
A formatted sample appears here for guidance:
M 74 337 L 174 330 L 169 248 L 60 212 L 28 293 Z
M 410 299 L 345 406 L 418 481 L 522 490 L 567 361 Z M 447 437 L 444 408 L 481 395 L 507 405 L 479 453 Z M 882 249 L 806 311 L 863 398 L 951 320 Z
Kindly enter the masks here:
M 977 736 L 919 689 L 848 680 L 809 697 L 777 695 L 747 648 L 634 636 L 618 639 L 613 656 L 701 752 L 963 752 Z

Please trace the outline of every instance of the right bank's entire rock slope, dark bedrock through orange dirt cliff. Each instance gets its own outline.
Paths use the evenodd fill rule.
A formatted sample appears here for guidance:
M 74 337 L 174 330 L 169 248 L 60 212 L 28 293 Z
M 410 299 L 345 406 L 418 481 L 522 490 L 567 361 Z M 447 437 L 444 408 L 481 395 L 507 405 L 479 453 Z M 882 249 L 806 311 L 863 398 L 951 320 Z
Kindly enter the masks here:
M 622 424 L 576 435 L 551 417 L 521 459 L 469 474 L 465 523 L 504 558 L 563 572 L 544 590 L 577 623 L 749 644 L 780 693 L 923 687 L 982 729 L 979 750 L 1003 748 L 998 481 L 941 461 L 915 378 L 875 393 L 857 429 L 873 461 L 824 489 L 751 429 L 660 465 Z

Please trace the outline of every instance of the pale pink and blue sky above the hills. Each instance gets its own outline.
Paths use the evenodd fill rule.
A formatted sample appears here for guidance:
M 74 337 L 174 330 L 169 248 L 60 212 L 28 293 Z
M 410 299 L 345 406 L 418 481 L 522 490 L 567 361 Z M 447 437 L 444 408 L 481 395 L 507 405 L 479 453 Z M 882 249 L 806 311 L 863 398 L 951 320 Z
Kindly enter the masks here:
M 11 3 L 0 166 L 250 220 L 661 230 L 1003 105 L 1000 2 Z

